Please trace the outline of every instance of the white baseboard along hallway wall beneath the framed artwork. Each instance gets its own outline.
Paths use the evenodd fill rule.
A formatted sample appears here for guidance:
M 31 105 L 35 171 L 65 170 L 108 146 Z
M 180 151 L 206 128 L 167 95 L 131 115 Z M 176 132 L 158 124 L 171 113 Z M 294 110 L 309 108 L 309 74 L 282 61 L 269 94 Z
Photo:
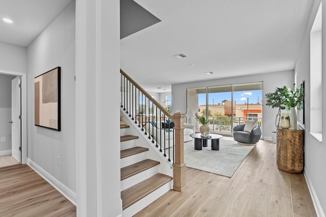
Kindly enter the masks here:
M 33 160 L 27 158 L 27 165 L 29 165 L 35 172 L 42 176 L 48 183 L 55 187 L 63 196 L 65 196 L 71 203 L 76 205 L 76 193 L 71 191 L 66 185 L 61 183 L 55 177 L 38 166 Z

